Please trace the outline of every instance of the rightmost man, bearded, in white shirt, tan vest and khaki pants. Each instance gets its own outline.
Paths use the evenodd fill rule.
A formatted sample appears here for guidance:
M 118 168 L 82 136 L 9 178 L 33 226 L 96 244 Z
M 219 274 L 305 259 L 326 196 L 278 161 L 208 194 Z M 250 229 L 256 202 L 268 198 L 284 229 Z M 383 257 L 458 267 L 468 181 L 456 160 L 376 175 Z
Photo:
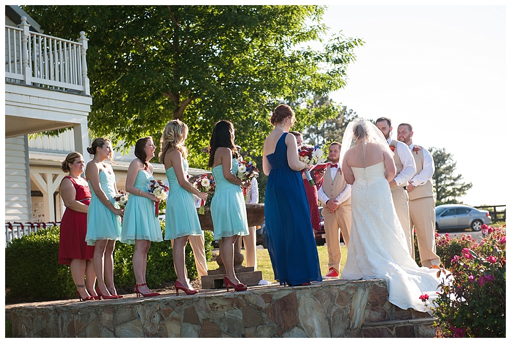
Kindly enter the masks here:
M 410 208 L 410 227 L 417 234 L 421 263 L 425 267 L 438 267 L 440 257 L 435 244 L 435 194 L 431 178 L 435 172 L 433 157 L 423 146 L 412 142 L 410 124 L 398 126 L 398 140 L 408 145 L 415 160 L 415 175 L 407 186 Z M 413 236 L 412 236 L 413 241 Z

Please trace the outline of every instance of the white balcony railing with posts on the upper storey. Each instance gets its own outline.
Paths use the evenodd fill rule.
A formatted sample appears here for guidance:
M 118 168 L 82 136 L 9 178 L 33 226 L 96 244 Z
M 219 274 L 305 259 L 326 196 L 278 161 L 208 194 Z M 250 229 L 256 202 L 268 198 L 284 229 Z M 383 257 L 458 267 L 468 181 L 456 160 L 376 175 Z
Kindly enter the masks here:
M 30 32 L 26 17 L 18 27 L 5 26 L 5 77 L 22 84 L 90 95 L 87 77 L 87 41 L 78 42 Z

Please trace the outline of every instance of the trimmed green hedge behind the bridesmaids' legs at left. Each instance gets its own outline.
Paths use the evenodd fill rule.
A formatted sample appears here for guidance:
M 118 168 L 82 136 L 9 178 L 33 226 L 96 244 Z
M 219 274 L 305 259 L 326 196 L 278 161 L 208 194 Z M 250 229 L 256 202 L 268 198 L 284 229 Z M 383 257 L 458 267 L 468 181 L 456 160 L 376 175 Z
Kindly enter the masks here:
M 165 224 L 160 222 L 165 235 Z M 204 250 L 212 259 L 213 234 L 204 232 Z M 117 242 L 114 250 L 114 282 L 120 292 L 132 292 L 133 245 Z M 13 301 L 43 301 L 75 298 L 76 287 L 69 266 L 58 264 L 59 227 L 41 229 L 8 243 L 6 256 L 6 299 Z M 185 249 L 188 276 L 197 277 L 190 244 Z M 152 242 L 147 257 L 147 283 L 158 288 L 176 279 L 170 240 Z

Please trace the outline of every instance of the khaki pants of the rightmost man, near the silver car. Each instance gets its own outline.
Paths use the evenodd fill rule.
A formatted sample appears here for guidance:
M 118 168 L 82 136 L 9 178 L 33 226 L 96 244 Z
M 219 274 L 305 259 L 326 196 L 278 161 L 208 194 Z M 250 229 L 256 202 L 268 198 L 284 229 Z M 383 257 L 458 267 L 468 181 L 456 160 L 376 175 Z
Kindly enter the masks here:
M 436 255 L 435 245 L 434 199 L 427 197 L 410 200 L 408 206 L 410 207 L 410 228 L 412 230 L 415 228 L 422 265 L 425 267 L 433 264 L 440 265 L 440 257 Z

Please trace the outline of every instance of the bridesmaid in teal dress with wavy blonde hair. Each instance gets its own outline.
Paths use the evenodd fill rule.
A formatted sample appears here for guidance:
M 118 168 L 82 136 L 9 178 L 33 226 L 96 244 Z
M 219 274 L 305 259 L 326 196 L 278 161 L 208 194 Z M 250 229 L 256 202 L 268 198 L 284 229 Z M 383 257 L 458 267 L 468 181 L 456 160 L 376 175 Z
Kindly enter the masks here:
M 169 180 L 169 195 L 165 211 L 165 239 L 173 239 L 172 256 L 177 280 L 174 284 L 176 295 L 179 289 L 187 295 L 196 294 L 188 282 L 186 267 L 184 265 L 184 248 L 188 236 L 199 236 L 202 230 L 199 216 L 195 208 L 193 195 L 206 200 L 207 193 L 200 192 L 188 182 L 188 151 L 184 141 L 188 136 L 188 126 L 181 120 L 168 122 L 161 134 L 160 163 L 165 164 L 165 174 Z

